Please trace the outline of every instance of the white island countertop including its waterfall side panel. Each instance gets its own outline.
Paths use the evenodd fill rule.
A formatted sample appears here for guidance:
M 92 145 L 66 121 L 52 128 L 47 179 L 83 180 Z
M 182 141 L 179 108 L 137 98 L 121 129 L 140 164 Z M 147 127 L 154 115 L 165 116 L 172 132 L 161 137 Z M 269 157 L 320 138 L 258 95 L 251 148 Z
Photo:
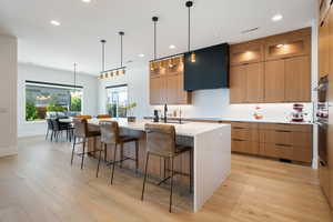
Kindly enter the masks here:
M 144 124 L 152 123 L 152 120 L 137 119 L 135 122 L 128 122 L 127 119 L 90 119 L 89 127 L 99 127 L 100 121 L 117 121 L 120 129 L 144 132 Z M 192 210 L 196 212 L 221 186 L 231 171 L 231 125 L 223 123 L 206 122 L 183 122 L 161 123 L 172 124 L 178 137 L 190 137 L 193 141 L 193 199 Z M 144 140 L 144 139 L 143 139 Z M 91 143 L 95 149 L 98 142 Z M 142 143 L 144 144 L 144 143 Z M 145 152 L 145 147 L 139 148 Z M 139 155 L 143 157 L 143 155 Z M 160 159 L 159 159 L 160 160 Z M 139 160 L 139 162 L 143 160 Z M 160 161 L 157 162 L 159 164 Z M 163 162 L 163 161 L 162 161 Z M 140 164 L 141 169 L 143 164 Z M 183 165 L 183 164 L 180 164 Z

